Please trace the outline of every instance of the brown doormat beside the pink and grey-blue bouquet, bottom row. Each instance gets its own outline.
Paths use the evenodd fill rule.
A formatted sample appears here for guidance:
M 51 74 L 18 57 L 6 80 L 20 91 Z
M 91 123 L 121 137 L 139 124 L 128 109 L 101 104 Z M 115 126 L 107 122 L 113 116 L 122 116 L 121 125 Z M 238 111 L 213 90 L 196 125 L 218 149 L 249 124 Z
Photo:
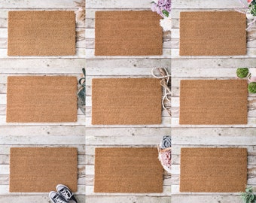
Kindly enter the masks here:
M 94 192 L 163 192 L 157 148 L 96 148 Z

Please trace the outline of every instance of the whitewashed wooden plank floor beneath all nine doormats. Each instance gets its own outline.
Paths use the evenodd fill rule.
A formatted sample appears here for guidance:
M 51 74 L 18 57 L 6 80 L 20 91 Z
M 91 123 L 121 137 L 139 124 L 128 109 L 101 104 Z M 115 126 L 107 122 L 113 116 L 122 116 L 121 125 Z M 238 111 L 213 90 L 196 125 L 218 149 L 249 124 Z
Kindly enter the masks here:
M 78 2 L 78 3 L 77 3 Z M 248 148 L 248 184 L 256 190 L 256 95 L 249 95 L 248 125 L 178 125 L 179 82 L 182 79 L 227 79 L 237 67 L 256 68 L 256 26 L 248 32 L 246 56 L 178 56 L 180 11 L 229 11 L 239 0 L 172 0 L 172 35 L 164 33 L 163 56 L 94 56 L 95 11 L 150 9 L 148 0 L 87 0 L 86 23 L 77 22 L 77 55 L 65 57 L 8 57 L 8 11 L 78 11 L 84 0 L 0 0 L 0 202 L 49 202 L 47 193 L 8 192 L 10 147 L 78 147 L 78 202 L 185 203 L 241 202 L 238 193 L 178 192 L 181 147 Z M 85 35 L 84 35 L 85 33 Z M 172 39 L 171 39 L 172 37 Z M 150 43 L 150 42 L 148 42 Z M 235 42 L 234 42 L 235 43 Z M 9 75 L 75 75 L 87 70 L 87 115 L 78 111 L 77 123 L 5 123 L 6 82 Z M 172 119 L 163 112 L 159 126 L 92 126 L 91 80 L 95 77 L 151 77 L 151 68 L 172 72 Z M 84 133 L 86 135 L 84 136 Z M 95 147 L 155 146 L 172 134 L 172 178 L 164 174 L 161 194 L 108 194 L 93 192 Z M 84 144 L 85 138 L 85 144 Z

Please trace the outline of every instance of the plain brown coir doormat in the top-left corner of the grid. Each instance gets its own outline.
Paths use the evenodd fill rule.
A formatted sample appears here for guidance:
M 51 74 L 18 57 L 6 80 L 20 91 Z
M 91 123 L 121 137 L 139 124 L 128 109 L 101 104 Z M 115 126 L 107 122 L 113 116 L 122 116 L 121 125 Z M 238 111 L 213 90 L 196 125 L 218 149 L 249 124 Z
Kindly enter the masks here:
M 8 56 L 75 55 L 74 11 L 9 11 Z

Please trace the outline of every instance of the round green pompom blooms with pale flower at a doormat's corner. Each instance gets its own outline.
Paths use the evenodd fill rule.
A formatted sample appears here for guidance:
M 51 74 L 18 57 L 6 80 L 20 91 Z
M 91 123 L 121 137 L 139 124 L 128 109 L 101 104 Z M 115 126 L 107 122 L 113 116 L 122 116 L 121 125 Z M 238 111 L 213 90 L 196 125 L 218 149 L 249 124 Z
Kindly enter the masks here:
M 256 93 L 256 68 L 237 68 L 236 76 L 248 80 L 248 92 Z

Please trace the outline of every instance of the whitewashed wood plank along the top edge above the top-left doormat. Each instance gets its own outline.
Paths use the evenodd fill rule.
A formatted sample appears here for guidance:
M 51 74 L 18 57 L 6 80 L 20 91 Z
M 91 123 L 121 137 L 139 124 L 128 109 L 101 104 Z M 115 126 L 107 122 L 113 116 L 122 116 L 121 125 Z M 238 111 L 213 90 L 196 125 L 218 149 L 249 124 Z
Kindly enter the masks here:
M 78 8 L 84 0 L 0 1 L 0 8 Z

